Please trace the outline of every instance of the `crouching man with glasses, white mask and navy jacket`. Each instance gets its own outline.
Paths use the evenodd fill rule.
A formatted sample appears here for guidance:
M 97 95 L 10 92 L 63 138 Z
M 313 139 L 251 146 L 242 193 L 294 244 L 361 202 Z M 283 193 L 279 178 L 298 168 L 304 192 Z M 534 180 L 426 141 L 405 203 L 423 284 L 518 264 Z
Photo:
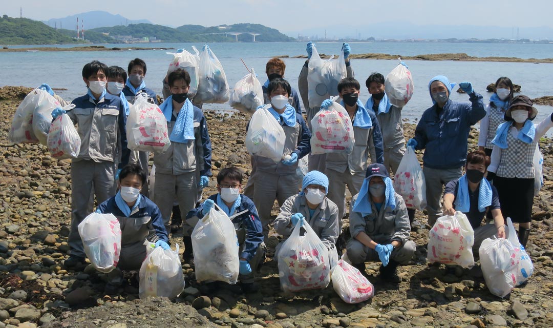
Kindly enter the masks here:
M 203 204 L 188 212 L 186 221 L 194 227 L 198 220 L 208 214 L 217 204 L 231 217 L 239 243 L 239 279 L 243 291 L 253 291 L 255 270 L 259 269 L 265 259 L 263 230 L 253 201 L 241 195 L 242 171 L 233 166 L 224 168 L 217 174 L 218 194 L 211 195 Z M 185 252 L 192 252 L 192 244 L 185 243 Z

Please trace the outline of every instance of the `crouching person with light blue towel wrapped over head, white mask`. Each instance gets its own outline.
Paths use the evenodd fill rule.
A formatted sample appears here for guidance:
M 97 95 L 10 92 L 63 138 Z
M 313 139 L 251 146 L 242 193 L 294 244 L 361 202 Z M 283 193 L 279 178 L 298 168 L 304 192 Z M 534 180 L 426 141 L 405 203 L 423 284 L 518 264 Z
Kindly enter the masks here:
M 283 242 L 290 237 L 296 224 L 308 224 L 326 248 L 336 247 L 338 239 L 338 206 L 326 197 L 328 178 L 319 171 L 304 176 L 301 192 L 286 199 L 274 221 L 274 229 L 283 240 L 276 246 L 275 258 Z

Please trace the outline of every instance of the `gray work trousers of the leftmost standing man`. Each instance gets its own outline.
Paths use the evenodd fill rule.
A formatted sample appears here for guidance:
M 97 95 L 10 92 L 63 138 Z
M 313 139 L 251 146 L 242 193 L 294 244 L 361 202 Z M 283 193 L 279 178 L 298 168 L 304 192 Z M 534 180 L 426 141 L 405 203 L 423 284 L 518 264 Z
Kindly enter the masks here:
M 115 171 L 115 164 L 112 162 L 71 162 L 71 228 L 68 242 L 72 256 L 86 257 L 79 235 L 79 223 L 91 213 L 92 193 L 96 195 L 98 204 L 115 194 Z

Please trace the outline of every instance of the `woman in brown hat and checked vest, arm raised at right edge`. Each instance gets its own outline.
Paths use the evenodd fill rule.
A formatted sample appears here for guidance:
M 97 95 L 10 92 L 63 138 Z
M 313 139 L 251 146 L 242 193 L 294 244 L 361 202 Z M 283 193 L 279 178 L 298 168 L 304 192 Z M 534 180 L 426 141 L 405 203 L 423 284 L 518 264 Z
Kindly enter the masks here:
M 503 217 L 519 223 L 519 241 L 526 247 L 534 200 L 534 154 L 538 142 L 553 127 L 553 113 L 540 124 L 534 103 L 524 95 L 513 98 L 505 112 L 505 123 L 492 140 L 492 163 L 488 177 L 499 193 Z

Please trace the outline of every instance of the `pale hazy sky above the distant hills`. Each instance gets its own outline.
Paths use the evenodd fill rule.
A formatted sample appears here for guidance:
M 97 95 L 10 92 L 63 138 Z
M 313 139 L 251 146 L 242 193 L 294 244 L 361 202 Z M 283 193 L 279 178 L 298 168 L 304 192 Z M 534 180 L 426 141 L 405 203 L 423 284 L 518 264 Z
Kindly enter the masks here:
M 19 17 L 19 7 L 23 7 L 24 17 L 36 20 L 103 10 L 128 19 L 148 19 L 154 24 L 175 27 L 259 23 L 281 32 L 395 20 L 414 24 L 553 27 L 551 0 L 3 0 L 0 14 Z

